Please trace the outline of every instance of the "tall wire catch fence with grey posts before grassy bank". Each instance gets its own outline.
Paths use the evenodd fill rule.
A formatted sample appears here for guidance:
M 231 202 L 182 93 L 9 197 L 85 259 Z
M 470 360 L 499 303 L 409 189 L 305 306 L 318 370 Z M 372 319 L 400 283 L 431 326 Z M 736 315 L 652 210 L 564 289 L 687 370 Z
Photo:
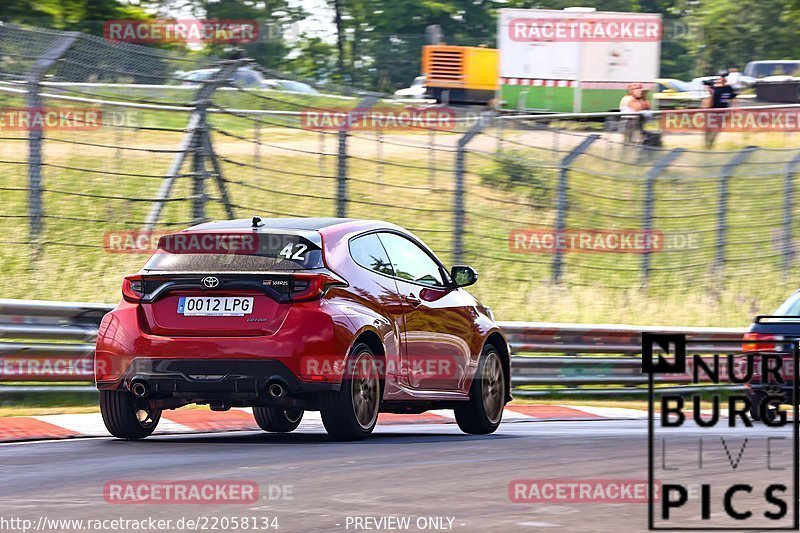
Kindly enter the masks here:
M 146 258 L 126 238 L 254 215 L 405 226 L 475 266 L 505 320 L 738 325 L 795 289 L 800 149 L 652 147 L 602 120 L 437 106 L 374 121 L 407 108 L 240 84 L 240 69 L 278 76 L 0 26 L 3 297 L 114 301 Z M 32 110 L 61 118 L 21 123 Z

